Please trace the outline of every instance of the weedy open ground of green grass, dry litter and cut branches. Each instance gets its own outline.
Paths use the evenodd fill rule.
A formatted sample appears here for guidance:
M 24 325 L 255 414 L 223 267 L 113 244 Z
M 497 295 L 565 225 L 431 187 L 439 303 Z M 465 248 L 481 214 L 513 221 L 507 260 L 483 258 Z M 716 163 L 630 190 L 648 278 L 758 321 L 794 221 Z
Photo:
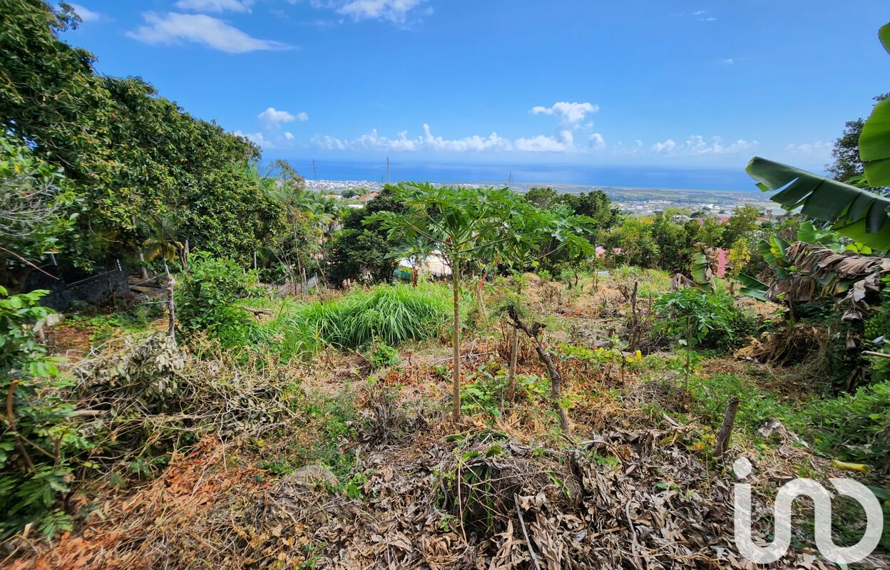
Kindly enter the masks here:
M 115 410 L 88 421 L 122 442 L 119 456 L 102 457 L 69 497 L 73 532 L 48 545 L 15 537 L 4 565 L 753 568 L 732 540 L 732 462 L 755 465 L 754 535 L 767 541 L 778 486 L 851 476 L 830 461 L 844 448 L 832 421 L 851 408 L 831 404 L 805 366 L 687 355 L 648 330 L 644 350 L 630 350 L 634 287 L 651 328 L 651 300 L 669 286 L 631 268 L 572 288 L 529 274 L 466 293 L 460 421 L 448 413 L 446 285 L 247 300 L 268 311 L 249 333 L 192 338 L 163 362 L 156 313 L 69 318 L 48 341 L 69 358 L 85 405 Z M 511 331 L 497 307 L 507 291 L 546 324 L 570 434 L 527 339 L 506 401 Z M 717 460 L 733 396 L 732 447 Z M 771 420 L 780 427 L 763 430 Z M 857 476 L 887 487 L 879 469 Z M 862 513 L 840 506 L 836 541 L 855 542 Z M 797 513 L 775 567 L 831 567 L 813 547 L 811 515 Z M 884 554 L 863 567 L 885 567 Z

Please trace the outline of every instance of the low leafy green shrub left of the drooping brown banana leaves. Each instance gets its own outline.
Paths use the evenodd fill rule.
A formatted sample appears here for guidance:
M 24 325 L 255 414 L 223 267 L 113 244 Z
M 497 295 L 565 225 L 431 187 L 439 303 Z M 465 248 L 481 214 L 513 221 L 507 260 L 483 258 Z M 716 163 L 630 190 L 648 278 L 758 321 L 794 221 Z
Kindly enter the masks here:
M 659 297 L 655 332 L 706 349 L 731 349 L 756 333 L 754 315 L 735 306 L 723 291 L 686 287 Z

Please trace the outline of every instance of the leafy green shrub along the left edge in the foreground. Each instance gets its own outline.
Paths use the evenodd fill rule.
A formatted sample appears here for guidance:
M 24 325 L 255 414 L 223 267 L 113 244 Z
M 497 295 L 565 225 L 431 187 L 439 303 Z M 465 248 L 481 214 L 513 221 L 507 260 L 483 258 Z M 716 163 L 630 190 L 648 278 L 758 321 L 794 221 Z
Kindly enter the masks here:
M 0 393 L 12 396 L 0 433 L 0 538 L 30 522 L 47 538 L 70 530 L 55 505 L 74 478 L 72 455 L 89 446 L 60 397 L 73 380 L 59 375 L 35 339 L 33 324 L 53 312 L 39 304 L 45 293 L 10 296 L 0 287 Z

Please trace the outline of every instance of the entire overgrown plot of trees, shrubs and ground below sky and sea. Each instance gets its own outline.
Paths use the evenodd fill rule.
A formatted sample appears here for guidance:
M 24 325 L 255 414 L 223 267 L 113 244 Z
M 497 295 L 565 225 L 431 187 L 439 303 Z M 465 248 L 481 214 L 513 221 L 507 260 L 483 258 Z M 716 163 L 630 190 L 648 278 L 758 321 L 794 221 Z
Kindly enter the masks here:
M 886 486 L 890 100 L 851 184 L 752 159 L 779 222 L 429 183 L 344 213 L 96 74 L 67 4 L 3 12 L 3 283 L 53 253 L 162 285 L 61 324 L 0 288 L 4 564 L 732 566 L 730 460 L 758 513 L 798 475 Z

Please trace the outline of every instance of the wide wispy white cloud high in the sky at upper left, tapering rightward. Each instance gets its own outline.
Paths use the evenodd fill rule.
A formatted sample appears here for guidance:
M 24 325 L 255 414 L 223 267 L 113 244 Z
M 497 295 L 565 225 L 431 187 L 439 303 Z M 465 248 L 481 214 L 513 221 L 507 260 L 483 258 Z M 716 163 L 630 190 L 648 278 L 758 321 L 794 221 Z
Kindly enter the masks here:
M 228 53 L 245 53 L 262 50 L 286 50 L 290 46 L 272 40 L 248 36 L 223 20 L 206 14 L 181 14 L 156 12 L 142 14 L 146 25 L 126 33 L 146 44 L 205 44 Z

